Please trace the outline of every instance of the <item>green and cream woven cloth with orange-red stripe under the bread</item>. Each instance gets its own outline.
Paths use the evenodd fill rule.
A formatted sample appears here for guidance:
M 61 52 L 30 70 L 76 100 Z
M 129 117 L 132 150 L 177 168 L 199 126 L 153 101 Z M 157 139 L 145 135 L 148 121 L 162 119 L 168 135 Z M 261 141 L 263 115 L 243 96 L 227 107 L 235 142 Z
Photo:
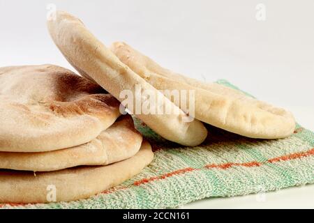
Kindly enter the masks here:
M 237 89 L 225 80 L 218 84 Z M 314 183 L 314 133 L 297 125 L 285 139 L 249 139 L 212 126 L 201 146 L 161 139 L 139 120 L 154 161 L 140 174 L 90 199 L 1 208 L 175 208 L 207 197 L 232 197 Z

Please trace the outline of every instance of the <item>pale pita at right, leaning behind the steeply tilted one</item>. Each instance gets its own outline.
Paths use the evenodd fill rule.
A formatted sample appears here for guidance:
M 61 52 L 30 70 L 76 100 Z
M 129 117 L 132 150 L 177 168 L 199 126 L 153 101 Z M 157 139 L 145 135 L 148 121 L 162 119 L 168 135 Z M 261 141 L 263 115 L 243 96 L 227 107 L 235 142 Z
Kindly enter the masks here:
M 126 43 L 114 43 L 111 49 L 156 89 L 195 90 L 195 118 L 200 121 L 246 137 L 262 139 L 287 137 L 294 131 L 294 117 L 284 109 L 220 84 L 204 84 L 161 68 Z

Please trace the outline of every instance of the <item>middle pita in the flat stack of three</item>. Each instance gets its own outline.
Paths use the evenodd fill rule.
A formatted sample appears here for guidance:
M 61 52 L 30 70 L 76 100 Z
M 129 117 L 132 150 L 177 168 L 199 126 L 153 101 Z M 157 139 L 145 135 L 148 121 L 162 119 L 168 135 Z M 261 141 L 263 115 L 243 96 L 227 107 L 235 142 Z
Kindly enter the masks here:
M 0 169 L 56 171 L 80 165 L 107 165 L 132 157 L 141 144 L 142 135 L 126 115 L 87 144 L 41 153 L 0 152 Z

